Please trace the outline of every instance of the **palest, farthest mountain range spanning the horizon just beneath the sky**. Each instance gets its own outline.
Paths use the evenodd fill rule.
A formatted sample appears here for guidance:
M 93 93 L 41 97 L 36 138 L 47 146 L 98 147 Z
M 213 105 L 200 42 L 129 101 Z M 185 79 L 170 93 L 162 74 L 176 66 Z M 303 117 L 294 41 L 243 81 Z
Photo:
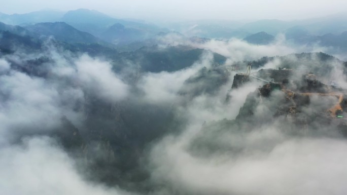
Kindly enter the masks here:
M 159 27 L 144 21 L 116 19 L 95 10 L 78 9 L 74 11 L 37 11 L 27 14 L 1 14 L 0 22 L 11 25 L 33 25 L 41 22 L 65 22 L 75 28 L 89 32 L 94 36 L 102 38 L 102 34 L 109 34 L 119 29 L 112 27 L 121 24 L 135 37 L 142 38 L 156 34 L 160 31 L 167 32 L 176 30 L 184 32 L 189 36 L 200 36 L 206 38 L 245 38 L 248 35 L 264 31 L 271 35 L 286 33 L 291 28 L 300 28 L 315 36 L 328 33 L 340 34 L 347 31 L 347 19 L 344 13 L 327 17 L 283 21 L 283 20 L 259 20 L 252 22 L 237 22 L 228 20 L 199 20 L 180 23 L 167 23 Z M 108 31 L 108 33 L 106 32 Z M 139 36 L 137 36 L 139 35 Z M 113 35 L 115 36 L 115 35 Z

